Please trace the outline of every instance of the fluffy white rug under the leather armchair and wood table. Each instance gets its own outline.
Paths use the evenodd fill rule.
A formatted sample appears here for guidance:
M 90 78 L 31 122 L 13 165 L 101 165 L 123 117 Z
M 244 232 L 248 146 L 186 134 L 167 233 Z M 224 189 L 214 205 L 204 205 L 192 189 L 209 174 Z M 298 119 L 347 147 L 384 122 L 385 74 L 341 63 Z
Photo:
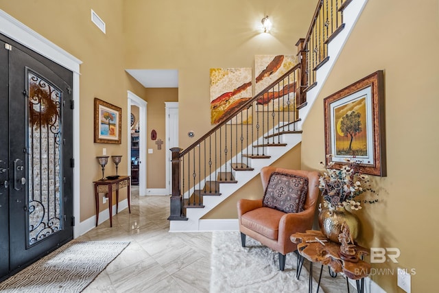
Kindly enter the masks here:
M 317 289 L 320 268 L 313 265 L 313 292 Z M 287 255 L 285 270 L 281 272 L 278 253 L 250 237 L 243 248 L 239 232 L 213 232 L 211 269 L 211 293 L 308 292 L 309 261 L 305 260 L 300 278 L 296 279 L 295 253 Z M 346 279 L 341 274 L 330 277 L 328 268 L 324 267 L 319 292 L 347 292 Z

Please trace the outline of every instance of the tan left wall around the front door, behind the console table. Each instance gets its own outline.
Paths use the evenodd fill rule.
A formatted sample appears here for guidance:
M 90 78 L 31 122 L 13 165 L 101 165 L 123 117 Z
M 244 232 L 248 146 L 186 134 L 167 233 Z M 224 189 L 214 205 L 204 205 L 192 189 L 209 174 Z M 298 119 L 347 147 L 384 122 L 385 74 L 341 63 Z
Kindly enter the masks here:
M 82 60 L 80 66 L 80 221 L 95 215 L 93 180 L 102 177 L 95 156 L 122 154 L 119 172 L 127 169 L 127 90 L 143 96 L 143 86 L 125 71 L 122 7 L 123 1 L 7 1 L 0 8 L 32 30 L 51 40 L 62 49 Z M 91 22 L 91 9 L 106 22 L 103 34 Z M 93 143 L 93 99 L 98 97 L 122 108 L 122 143 Z M 125 170 L 125 172 L 123 171 Z M 108 163 L 105 174 L 115 174 L 115 165 Z M 102 198 L 101 194 L 101 198 Z M 121 200 L 126 198 L 121 190 Z M 102 204 L 101 210 L 108 209 Z

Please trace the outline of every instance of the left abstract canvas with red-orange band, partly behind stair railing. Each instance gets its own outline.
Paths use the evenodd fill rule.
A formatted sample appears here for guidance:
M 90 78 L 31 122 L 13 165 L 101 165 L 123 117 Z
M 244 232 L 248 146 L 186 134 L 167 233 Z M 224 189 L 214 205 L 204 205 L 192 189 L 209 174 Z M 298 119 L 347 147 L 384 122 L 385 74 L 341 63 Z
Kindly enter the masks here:
M 252 98 L 251 68 L 213 68 L 211 78 L 211 124 L 219 124 Z M 237 115 L 233 124 L 250 123 L 251 117 Z

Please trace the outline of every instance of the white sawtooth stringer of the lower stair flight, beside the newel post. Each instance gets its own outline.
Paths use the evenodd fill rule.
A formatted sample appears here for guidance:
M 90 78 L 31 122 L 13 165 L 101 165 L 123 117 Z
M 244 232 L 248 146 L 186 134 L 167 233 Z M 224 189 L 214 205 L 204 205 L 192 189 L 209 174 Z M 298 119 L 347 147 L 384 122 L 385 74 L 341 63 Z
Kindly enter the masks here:
M 283 143 L 287 143 L 285 147 L 267 147 L 265 154 L 270 156 L 269 159 L 249 159 L 250 165 L 254 168 L 252 171 L 233 171 L 237 183 L 221 184 L 219 192 L 221 196 L 204 196 L 203 209 L 187 209 L 187 221 L 170 221 L 169 232 L 189 232 L 200 231 L 200 219 L 214 209 L 219 203 L 226 200 L 229 196 L 235 193 L 238 189 L 246 185 L 254 176 L 261 172 L 261 168 L 269 166 L 274 161 L 278 160 L 292 150 L 300 141 L 302 141 L 302 134 L 282 134 L 281 139 Z

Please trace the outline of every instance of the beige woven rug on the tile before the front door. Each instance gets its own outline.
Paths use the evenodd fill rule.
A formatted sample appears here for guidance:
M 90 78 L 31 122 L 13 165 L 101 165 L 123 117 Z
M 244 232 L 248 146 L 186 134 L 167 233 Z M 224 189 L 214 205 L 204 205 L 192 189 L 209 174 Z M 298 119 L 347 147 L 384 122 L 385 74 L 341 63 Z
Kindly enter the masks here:
M 81 292 L 130 242 L 71 241 L 0 283 L 0 292 Z

